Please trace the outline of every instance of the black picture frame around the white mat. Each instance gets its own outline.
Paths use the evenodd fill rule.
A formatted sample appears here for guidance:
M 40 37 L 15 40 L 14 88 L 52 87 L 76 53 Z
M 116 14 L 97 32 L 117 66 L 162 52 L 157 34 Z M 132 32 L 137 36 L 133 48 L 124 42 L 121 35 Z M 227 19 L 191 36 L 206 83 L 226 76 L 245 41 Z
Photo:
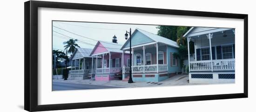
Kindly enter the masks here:
M 130 13 L 153 13 L 153 14 L 170 14 L 197 17 L 218 17 L 244 20 L 244 84 L 243 93 L 234 94 L 216 94 L 188 97 L 170 97 L 155 99 L 132 99 L 132 100 L 115 100 L 115 101 L 99 101 L 99 102 L 81 102 L 81 103 L 65 103 L 53 105 L 38 105 L 38 8 L 63 8 L 63 9 L 81 9 L 96 11 L 114 11 L 114 12 L 130 12 Z M 25 20 L 24 20 L 24 37 L 25 37 L 25 55 L 24 55 L 24 108 L 27 111 L 49 111 L 63 109 L 79 109 L 106 106 L 121 105 L 144 105 L 157 103 L 213 100 L 213 99 L 234 99 L 248 98 L 248 14 L 236 13 L 214 13 L 200 11 L 170 10 L 142 7 L 122 7 L 107 5 L 92 5 L 80 3 L 63 3 L 48 1 L 27 1 L 24 3 Z

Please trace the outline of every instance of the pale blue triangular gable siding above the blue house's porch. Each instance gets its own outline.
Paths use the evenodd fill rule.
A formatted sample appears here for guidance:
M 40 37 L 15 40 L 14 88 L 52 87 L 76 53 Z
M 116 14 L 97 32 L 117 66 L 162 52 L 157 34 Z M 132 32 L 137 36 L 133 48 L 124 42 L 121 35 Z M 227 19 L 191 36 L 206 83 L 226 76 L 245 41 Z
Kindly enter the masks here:
M 154 40 L 148 38 L 146 35 L 140 33 L 140 32 L 135 32 L 132 37 L 132 46 L 140 45 L 140 44 L 145 44 L 149 42 L 153 42 Z M 130 46 L 130 41 L 126 43 L 124 47 L 129 47 Z

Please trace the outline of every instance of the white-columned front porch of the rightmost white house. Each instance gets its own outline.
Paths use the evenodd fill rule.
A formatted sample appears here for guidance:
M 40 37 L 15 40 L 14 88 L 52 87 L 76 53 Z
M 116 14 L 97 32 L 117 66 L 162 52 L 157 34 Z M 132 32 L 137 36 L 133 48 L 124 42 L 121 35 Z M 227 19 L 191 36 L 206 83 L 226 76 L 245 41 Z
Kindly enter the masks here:
M 193 27 L 185 34 L 194 42 L 195 55 L 189 56 L 189 72 L 235 71 L 235 29 Z M 188 47 L 188 53 L 189 51 Z M 190 54 L 190 53 L 189 53 Z

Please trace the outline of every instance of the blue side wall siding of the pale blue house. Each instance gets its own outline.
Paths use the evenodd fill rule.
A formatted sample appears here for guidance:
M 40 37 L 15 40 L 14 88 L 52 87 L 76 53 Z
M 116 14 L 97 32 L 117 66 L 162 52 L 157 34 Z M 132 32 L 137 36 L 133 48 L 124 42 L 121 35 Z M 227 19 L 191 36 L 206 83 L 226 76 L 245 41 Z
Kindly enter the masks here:
M 175 72 L 181 72 L 181 67 L 180 67 L 180 60 L 177 59 L 177 66 L 171 66 L 171 53 L 177 53 L 178 52 L 178 48 L 175 48 L 175 47 L 171 47 L 171 46 L 168 46 L 167 47 L 168 49 L 168 73 L 175 73 Z

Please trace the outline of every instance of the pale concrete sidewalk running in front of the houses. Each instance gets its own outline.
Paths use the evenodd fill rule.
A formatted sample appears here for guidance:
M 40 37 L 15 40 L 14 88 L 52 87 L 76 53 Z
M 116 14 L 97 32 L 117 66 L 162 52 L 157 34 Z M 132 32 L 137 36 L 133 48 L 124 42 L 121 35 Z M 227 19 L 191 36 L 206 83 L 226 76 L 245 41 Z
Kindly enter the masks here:
M 54 82 L 65 82 L 74 84 L 87 84 L 87 85 L 100 85 L 100 86 L 115 86 L 115 87 L 149 87 L 149 86 L 182 86 L 192 85 L 188 82 L 189 75 L 175 75 L 171 78 L 165 79 L 161 82 L 135 82 L 128 83 L 122 80 L 110 80 L 110 81 L 95 81 L 89 79 L 83 80 L 63 80 L 53 79 Z

